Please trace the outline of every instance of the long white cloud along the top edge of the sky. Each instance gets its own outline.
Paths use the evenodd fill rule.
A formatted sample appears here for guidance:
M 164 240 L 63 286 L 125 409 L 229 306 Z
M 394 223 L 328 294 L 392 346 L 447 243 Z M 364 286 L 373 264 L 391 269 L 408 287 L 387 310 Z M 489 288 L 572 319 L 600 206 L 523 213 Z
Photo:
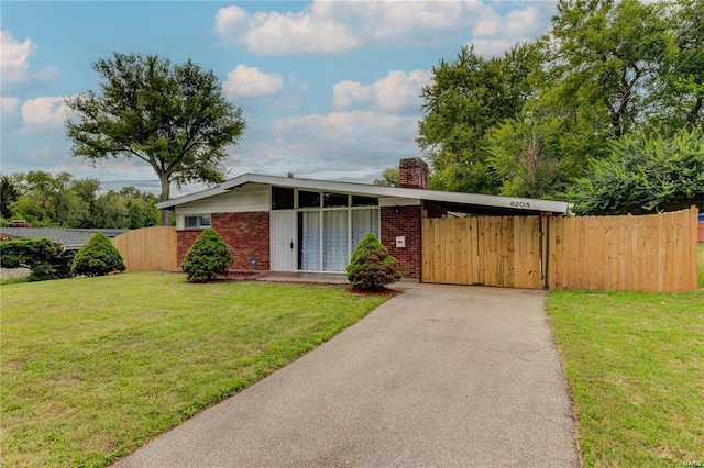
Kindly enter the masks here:
M 519 4 L 519 3 L 517 3 Z M 502 15 L 495 4 L 465 1 L 324 1 L 298 12 L 222 8 L 216 14 L 221 44 L 244 44 L 255 54 L 340 53 L 369 44 L 435 44 L 471 32 L 479 38 L 512 44 L 547 29 L 542 10 L 553 2 L 513 10 Z M 468 37 L 469 40 L 469 37 Z

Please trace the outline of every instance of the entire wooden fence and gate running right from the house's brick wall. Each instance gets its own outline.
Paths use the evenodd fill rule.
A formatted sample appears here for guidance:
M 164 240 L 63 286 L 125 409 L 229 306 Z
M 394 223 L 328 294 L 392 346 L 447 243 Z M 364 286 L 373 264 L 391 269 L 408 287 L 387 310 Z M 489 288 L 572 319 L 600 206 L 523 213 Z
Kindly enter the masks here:
M 645 216 L 427 219 L 422 281 L 694 290 L 696 229 L 696 208 Z

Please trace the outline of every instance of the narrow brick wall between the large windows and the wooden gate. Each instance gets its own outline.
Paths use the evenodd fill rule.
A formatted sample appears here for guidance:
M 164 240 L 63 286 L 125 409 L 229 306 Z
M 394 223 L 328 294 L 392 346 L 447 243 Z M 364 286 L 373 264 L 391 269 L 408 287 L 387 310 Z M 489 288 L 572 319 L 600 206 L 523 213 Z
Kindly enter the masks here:
M 420 207 L 382 208 L 382 244 L 397 261 L 404 278 L 420 279 Z M 406 247 L 396 248 L 396 236 L 406 236 Z

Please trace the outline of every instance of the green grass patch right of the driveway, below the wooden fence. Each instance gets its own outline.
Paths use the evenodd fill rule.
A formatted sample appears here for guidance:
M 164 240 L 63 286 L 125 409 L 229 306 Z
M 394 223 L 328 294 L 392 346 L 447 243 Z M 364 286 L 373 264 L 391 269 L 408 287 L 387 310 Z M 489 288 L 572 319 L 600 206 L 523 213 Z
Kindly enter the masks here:
M 585 466 L 704 463 L 704 292 L 562 290 L 547 308 Z

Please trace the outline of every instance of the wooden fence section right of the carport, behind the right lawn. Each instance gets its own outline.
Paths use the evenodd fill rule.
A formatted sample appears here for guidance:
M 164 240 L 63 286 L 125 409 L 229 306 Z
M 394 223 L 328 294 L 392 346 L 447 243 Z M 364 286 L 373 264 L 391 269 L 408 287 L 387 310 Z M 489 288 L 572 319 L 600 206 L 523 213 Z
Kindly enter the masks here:
M 642 216 L 551 219 L 548 287 L 695 290 L 696 224 L 696 208 Z

